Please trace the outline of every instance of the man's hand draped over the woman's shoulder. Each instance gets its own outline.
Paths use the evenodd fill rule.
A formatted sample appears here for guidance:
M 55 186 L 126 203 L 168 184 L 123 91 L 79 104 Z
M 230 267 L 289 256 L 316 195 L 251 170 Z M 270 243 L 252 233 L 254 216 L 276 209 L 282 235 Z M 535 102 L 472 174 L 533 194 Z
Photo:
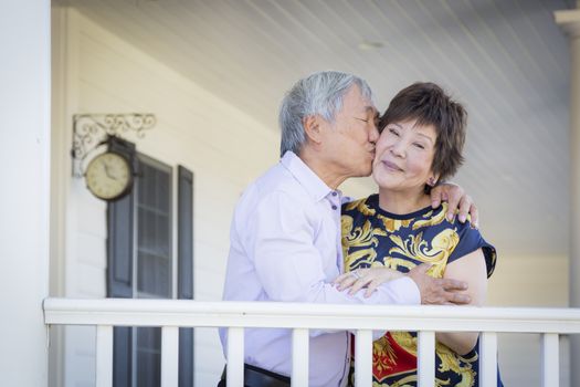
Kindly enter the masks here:
M 473 202 L 471 196 L 466 195 L 463 188 L 453 182 L 444 182 L 431 189 L 431 206 L 437 208 L 441 201 L 446 201 L 447 220 L 452 221 L 455 216 L 455 210 L 460 209 L 460 222 L 465 222 L 467 213 L 472 217 L 472 224 L 476 229 L 479 228 L 479 217 L 477 207 Z

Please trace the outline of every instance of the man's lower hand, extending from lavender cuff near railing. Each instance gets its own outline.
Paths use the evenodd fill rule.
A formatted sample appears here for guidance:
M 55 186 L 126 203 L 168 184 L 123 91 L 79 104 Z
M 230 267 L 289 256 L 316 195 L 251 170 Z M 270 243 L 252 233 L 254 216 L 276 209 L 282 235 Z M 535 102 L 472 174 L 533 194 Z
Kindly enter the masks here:
M 431 265 L 422 263 L 414 266 L 407 275 L 416 283 L 421 292 L 421 304 L 456 305 L 467 304 L 471 297 L 460 293 L 467 289 L 467 283 L 451 279 L 434 279 L 426 274 Z

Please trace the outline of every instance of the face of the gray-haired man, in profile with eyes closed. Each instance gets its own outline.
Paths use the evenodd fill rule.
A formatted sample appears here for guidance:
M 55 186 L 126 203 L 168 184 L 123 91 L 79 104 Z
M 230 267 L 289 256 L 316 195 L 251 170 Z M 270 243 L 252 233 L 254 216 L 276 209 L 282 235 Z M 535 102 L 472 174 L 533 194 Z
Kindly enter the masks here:
M 366 100 L 357 85 L 342 98 L 342 108 L 334 123 L 327 123 L 325 155 L 331 170 L 344 179 L 369 176 L 375 159 L 375 143 L 379 138 L 377 108 Z

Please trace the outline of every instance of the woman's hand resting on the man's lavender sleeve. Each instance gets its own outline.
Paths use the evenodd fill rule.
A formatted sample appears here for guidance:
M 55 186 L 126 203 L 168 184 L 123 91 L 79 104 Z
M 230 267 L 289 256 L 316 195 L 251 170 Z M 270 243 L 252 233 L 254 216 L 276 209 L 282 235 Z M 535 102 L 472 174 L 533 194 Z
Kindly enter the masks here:
M 403 275 L 403 273 L 388 268 L 357 269 L 340 274 L 334 283 L 339 291 L 350 287 L 348 293 L 351 295 L 366 287 L 365 296 L 369 297 L 380 284 L 400 279 Z

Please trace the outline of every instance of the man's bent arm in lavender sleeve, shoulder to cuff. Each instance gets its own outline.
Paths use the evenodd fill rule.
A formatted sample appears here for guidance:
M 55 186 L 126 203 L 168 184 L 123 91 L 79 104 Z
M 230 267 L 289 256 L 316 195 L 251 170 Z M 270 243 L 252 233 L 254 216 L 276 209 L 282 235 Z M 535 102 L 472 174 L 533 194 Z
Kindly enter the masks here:
M 333 255 L 325 262 L 314 244 L 316 231 L 307 209 L 297 208 L 296 200 L 285 192 L 270 192 L 261 198 L 254 212 L 245 219 L 247 255 L 268 297 L 274 301 L 313 303 L 419 304 L 418 287 L 409 279 L 379 286 L 370 297 L 363 292 L 348 294 L 330 282 L 329 264 L 338 264 Z M 336 227 L 324 224 L 323 227 Z M 331 234 L 336 234 L 336 230 Z M 331 245 L 331 244 L 330 244 Z M 327 258 L 328 260 L 329 258 Z

